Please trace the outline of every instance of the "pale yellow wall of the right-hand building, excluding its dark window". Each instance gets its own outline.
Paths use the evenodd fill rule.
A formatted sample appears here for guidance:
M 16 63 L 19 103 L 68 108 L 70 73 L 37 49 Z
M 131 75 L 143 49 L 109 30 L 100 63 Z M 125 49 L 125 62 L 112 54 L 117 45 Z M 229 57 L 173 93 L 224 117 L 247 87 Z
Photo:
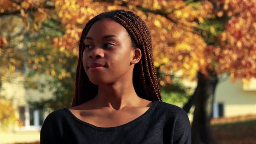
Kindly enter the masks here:
M 241 80 L 217 85 L 215 101 L 223 102 L 225 117 L 256 114 L 256 90 L 244 91 Z

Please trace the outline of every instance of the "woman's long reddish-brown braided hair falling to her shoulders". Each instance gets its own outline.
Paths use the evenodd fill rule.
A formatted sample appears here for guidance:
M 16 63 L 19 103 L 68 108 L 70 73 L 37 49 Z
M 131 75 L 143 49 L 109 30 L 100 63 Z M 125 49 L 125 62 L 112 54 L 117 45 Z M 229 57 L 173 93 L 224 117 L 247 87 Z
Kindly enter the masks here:
M 75 75 L 75 95 L 72 107 L 94 98 L 98 93 L 98 85 L 92 84 L 82 65 L 82 53 L 85 49 L 84 39 L 91 26 L 99 20 L 111 19 L 123 26 L 129 36 L 133 48 L 141 49 L 141 60 L 133 70 L 133 85 L 136 94 L 149 101 L 162 101 L 158 79 L 152 55 L 151 35 L 143 20 L 135 13 L 125 10 L 115 10 L 95 16 L 85 25 L 79 41 L 79 58 Z

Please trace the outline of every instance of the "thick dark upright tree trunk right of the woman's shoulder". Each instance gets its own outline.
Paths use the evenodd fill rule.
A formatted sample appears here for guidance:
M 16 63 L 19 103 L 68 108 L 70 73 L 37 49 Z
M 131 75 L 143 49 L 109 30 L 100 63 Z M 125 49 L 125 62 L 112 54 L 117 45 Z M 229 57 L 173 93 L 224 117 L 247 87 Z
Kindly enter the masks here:
M 214 93 L 218 78 L 213 72 L 209 72 L 208 78 L 198 72 L 197 78 L 192 144 L 216 144 L 211 133 L 210 119 L 212 118 Z

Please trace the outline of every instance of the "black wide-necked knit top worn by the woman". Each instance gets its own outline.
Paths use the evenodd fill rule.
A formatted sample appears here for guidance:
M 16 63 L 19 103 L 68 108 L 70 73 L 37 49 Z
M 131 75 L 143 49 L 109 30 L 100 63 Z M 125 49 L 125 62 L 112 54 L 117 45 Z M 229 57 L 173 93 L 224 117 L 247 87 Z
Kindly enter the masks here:
M 159 101 L 135 120 L 110 128 L 79 120 L 63 108 L 47 116 L 40 133 L 40 144 L 59 143 L 191 144 L 191 128 L 185 111 Z

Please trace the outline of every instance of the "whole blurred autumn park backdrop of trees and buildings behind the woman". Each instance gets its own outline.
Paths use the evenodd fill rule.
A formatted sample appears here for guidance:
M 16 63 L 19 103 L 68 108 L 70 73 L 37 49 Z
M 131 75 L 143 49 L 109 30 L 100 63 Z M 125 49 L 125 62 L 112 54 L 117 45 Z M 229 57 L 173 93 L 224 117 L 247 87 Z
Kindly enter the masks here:
M 38 144 L 70 107 L 85 24 L 125 9 L 147 24 L 163 101 L 193 144 L 256 144 L 256 0 L 0 0 L 0 144 Z

